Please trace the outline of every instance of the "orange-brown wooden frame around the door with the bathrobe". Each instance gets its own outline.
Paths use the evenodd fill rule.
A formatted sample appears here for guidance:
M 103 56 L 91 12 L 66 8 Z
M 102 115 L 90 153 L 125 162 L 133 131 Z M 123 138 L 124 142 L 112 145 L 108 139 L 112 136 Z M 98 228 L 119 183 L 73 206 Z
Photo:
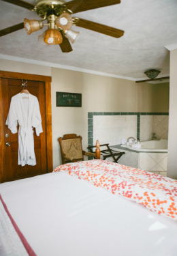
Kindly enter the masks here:
M 47 170 L 46 173 L 50 173 L 53 170 L 52 162 L 52 109 L 51 109 L 51 76 L 41 76 L 37 74 L 25 74 L 17 72 L 8 72 L 0 70 L 0 182 L 6 182 L 6 170 L 5 170 L 5 141 L 3 130 L 3 102 L 1 91 L 1 79 L 21 79 L 28 81 L 44 82 L 45 89 L 45 111 L 46 111 L 46 147 L 47 147 Z

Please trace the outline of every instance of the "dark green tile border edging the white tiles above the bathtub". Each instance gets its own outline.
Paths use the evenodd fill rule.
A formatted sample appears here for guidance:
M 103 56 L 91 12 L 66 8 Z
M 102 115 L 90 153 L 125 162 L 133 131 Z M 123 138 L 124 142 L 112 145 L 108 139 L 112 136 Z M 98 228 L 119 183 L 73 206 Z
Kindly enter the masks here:
M 141 115 L 169 115 L 157 112 L 88 112 L 88 146 L 93 145 L 93 116 L 94 115 L 137 115 L 137 139 L 140 139 Z M 91 156 L 88 158 L 93 159 Z

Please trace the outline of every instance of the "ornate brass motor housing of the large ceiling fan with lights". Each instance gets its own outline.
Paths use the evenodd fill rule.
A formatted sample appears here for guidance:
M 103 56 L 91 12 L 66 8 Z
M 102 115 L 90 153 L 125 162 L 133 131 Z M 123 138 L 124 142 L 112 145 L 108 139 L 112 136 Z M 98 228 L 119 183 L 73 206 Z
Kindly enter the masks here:
M 60 16 L 63 12 L 68 12 L 65 3 L 65 0 L 37 0 L 34 11 L 41 18 L 47 16 L 50 10 L 54 10 L 57 16 Z

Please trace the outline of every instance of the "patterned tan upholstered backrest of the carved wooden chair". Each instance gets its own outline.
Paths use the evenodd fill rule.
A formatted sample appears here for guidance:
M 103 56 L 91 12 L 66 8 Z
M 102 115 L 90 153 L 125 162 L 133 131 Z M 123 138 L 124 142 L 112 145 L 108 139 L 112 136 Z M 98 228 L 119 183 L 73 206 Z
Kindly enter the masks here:
M 61 146 L 61 156 L 63 164 L 66 161 L 65 156 L 70 159 L 84 160 L 82 154 L 82 137 L 76 134 L 65 134 L 63 138 L 59 138 Z

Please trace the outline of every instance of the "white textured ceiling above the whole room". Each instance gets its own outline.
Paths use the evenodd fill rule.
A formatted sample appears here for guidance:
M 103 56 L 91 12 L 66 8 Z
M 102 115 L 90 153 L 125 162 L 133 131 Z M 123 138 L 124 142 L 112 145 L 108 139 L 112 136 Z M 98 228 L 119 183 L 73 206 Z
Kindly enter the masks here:
M 35 4 L 34 0 L 27 0 Z M 96 1 L 96 0 L 93 0 Z M 0 29 L 22 23 L 24 18 L 39 19 L 35 12 L 0 1 Z M 42 31 L 27 35 L 25 29 L 0 38 L 0 55 L 63 66 L 146 79 L 144 71 L 170 73 L 170 53 L 164 47 L 177 43 L 176 0 L 122 0 L 118 5 L 80 12 L 78 16 L 125 31 L 122 38 L 96 33 L 80 27 L 80 37 L 71 44 L 73 52 L 62 53 L 60 47 L 42 46 L 37 40 Z M 0 57 L 1 57 L 0 56 Z

